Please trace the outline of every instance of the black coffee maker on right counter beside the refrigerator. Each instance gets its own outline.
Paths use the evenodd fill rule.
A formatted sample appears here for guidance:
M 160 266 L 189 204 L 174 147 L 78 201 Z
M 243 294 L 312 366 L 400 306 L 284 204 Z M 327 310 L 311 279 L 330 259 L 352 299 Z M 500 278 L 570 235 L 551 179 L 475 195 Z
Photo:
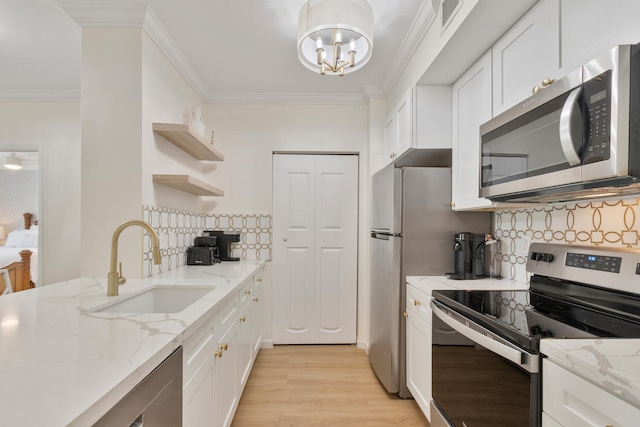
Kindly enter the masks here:
M 489 256 L 486 234 L 457 233 L 453 239 L 454 272 L 449 279 L 475 280 L 489 277 Z

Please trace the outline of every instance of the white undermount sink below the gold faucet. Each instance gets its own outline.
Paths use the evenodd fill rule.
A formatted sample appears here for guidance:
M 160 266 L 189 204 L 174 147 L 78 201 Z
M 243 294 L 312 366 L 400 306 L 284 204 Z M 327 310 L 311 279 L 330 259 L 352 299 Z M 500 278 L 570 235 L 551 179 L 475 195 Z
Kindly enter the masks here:
M 178 313 L 215 288 L 215 286 L 156 285 L 125 299 L 93 309 L 92 312 Z

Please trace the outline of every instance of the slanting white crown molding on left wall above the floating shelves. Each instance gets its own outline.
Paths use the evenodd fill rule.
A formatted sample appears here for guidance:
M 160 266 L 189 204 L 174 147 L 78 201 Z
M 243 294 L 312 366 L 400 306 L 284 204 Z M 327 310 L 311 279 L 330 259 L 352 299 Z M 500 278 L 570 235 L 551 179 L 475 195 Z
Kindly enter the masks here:
M 176 67 L 180 75 L 182 75 L 198 97 L 204 102 L 209 94 L 209 88 L 184 56 L 176 42 L 173 41 L 173 38 L 169 35 L 151 8 L 147 11 L 142 28 L 149 37 L 151 37 L 151 40 L 158 45 L 162 53 L 169 58 L 169 61 Z

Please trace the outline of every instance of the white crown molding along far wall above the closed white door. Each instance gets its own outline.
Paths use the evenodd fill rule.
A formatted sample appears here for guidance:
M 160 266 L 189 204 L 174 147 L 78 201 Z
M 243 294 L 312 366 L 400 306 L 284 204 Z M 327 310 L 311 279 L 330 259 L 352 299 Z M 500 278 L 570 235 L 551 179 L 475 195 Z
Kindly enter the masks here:
M 366 104 L 361 93 L 221 93 L 210 92 L 207 104 Z

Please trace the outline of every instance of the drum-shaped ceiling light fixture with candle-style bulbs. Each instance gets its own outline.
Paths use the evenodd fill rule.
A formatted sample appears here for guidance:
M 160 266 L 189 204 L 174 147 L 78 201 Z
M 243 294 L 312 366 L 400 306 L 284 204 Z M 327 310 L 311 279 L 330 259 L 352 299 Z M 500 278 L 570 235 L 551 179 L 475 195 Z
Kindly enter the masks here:
M 366 0 L 309 0 L 302 6 L 298 57 L 308 69 L 344 76 L 366 64 L 372 50 L 373 9 Z

